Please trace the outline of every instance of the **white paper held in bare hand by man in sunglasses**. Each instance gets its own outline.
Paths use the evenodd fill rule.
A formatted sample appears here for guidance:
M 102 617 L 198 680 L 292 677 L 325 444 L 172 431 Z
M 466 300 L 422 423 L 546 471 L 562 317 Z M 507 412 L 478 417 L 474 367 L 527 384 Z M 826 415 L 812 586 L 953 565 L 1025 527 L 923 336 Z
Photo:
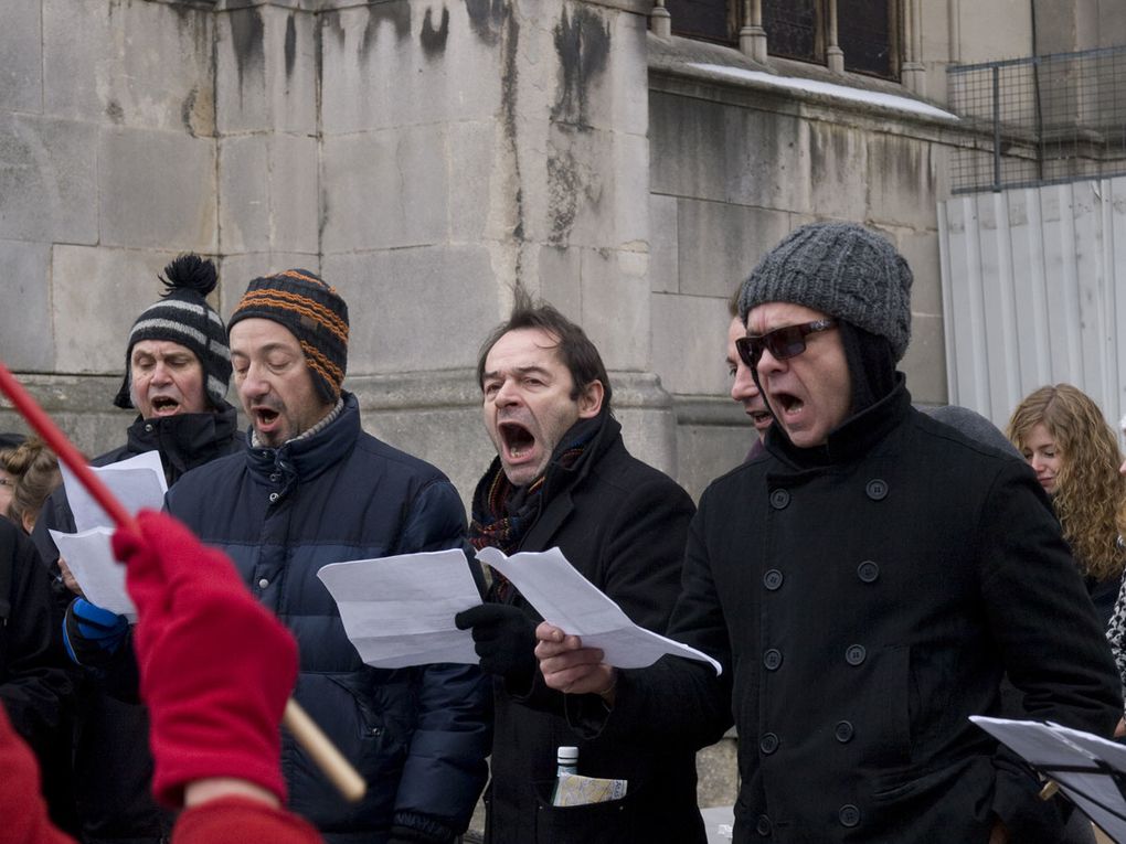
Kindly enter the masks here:
M 511 557 L 497 548 L 482 548 L 477 559 L 508 577 L 545 621 L 582 637 L 583 645 L 601 648 L 608 665 L 643 668 L 672 654 L 706 662 L 716 674 L 723 671 L 707 654 L 635 625 L 558 548 Z

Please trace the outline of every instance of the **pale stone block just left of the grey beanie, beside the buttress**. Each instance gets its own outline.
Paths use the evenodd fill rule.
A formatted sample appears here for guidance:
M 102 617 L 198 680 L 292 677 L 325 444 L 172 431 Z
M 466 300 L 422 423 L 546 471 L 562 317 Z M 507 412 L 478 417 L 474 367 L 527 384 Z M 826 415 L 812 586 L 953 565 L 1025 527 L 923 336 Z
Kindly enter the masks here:
M 669 393 L 723 395 L 731 388 L 723 362 L 726 302 L 706 296 L 654 295 L 653 371 Z

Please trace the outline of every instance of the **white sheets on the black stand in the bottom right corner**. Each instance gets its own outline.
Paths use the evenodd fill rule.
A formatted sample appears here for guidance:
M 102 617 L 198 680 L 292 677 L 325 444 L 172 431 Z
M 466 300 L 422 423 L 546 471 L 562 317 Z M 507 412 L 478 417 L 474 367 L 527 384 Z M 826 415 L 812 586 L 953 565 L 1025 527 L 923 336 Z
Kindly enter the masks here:
M 1057 724 L 971 716 L 969 720 L 1052 778 L 1115 841 L 1126 841 L 1126 800 L 1107 767 L 1126 772 L 1126 747 Z M 1060 771 L 1060 766 L 1090 772 Z

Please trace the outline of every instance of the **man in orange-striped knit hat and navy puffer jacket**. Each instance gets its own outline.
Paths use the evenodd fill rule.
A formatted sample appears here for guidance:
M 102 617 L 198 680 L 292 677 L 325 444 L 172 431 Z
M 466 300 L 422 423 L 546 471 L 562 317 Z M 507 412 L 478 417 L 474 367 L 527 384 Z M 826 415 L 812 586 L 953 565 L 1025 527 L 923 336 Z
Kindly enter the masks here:
M 453 844 L 488 775 L 486 682 L 473 665 L 365 665 L 316 573 L 462 548 L 465 509 L 437 468 L 363 430 L 343 389 L 348 335 L 347 304 L 316 273 L 252 280 L 230 323 L 247 448 L 189 473 L 168 511 L 225 550 L 293 631 L 294 699 L 368 783 L 363 802 L 347 805 L 287 742 L 294 811 L 329 844 Z

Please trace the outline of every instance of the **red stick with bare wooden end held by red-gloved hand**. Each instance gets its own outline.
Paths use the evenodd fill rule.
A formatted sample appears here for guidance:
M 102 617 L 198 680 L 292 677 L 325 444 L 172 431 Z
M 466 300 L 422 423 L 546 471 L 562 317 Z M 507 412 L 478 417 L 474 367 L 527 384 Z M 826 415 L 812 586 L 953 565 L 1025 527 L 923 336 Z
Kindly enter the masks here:
M 8 396 L 20 415 L 43 438 L 51 450 L 59 456 L 59 459 L 66 464 L 66 468 L 74 473 L 74 476 L 89 491 L 98 504 L 101 505 L 101 509 L 109 513 L 109 518 L 114 520 L 114 523 L 119 529 L 124 528 L 140 535 L 141 531 L 137 529 L 137 523 L 129 515 L 125 505 L 90 470 L 86 458 L 74 447 L 74 443 L 66 438 L 66 434 L 59 429 L 59 425 L 52 421 L 51 416 L 32 398 L 30 394 L 24 389 L 23 385 L 16 380 L 15 376 L 12 376 L 8 367 L 3 363 L 0 363 L 0 390 Z M 320 765 L 321 772 L 337 787 L 346 800 L 356 802 L 364 797 L 364 792 L 367 790 L 364 779 L 293 698 L 286 702 L 282 724 L 313 761 Z

